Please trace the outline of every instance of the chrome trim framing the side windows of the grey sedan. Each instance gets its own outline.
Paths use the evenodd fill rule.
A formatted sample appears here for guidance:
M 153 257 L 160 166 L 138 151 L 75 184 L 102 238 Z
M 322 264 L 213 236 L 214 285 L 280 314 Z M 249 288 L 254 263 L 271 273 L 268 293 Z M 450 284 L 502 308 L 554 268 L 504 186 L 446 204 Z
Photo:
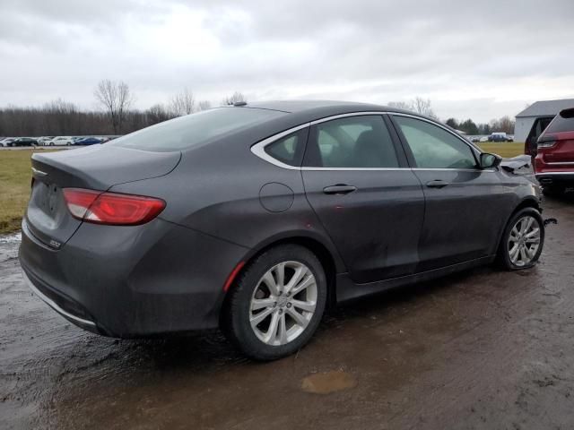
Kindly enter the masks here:
M 271 163 L 274 166 L 277 166 L 278 168 L 286 168 L 289 170 L 300 170 L 300 171 L 323 171 L 323 170 L 326 170 L 326 171 L 328 171 L 328 170 L 331 170 L 331 171 L 336 171 L 336 170 L 342 170 L 342 171 L 439 170 L 440 171 L 440 170 L 442 170 L 442 171 L 448 171 L 448 172 L 452 172 L 452 171 L 494 172 L 495 171 L 492 169 L 481 169 L 481 168 L 319 168 L 319 167 L 313 168 L 313 167 L 297 167 L 297 166 L 290 166 L 289 164 L 285 164 L 282 161 L 279 161 L 278 159 L 274 159 L 274 157 L 270 156 L 269 154 L 267 154 L 265 152 L 265 147 L 267 145 L 269 145 L 273 142 L 276 142 L 276 141 L 282 139 L 283 137 L 285 137 L 291 133 L 295 133 L 295 132 L 302 130 L 303 128 L 310 127 L 311 125 L 317 125 L 317 124 L 325 123 L 327 121 L 332 121 L 332 120 L 340 119 L 340 118 L 346 118 L 349 116 L 373 116 L 373 115 L 375 115 L 375 116 L 382 116 L 382 115 L 408 116 L 408 117 L 412 117 L 414 119 L 419 119 L 421 121 L 425 121 L 425 122 L 430 123 L 432 125 L 437 125 L 440 128 L 446 130 L 448 133 L 451 133 L 452 135 L 457 137 L 457 139 L 459 139 L 460 141 L 464 142 L 466 145 L 468 145 L 470 147 L 471 150 L 474 150 L 474 152 L 476 152 L 479 156 L 480 156 L 480 154 L 483 153 L 481 150 L 476 148 L 471 142 L 467 142 L 464 138 L 462 138 L 457 133 L 454 133 L 454 132 L 448 130 L 447 127 L 440 125 L 439 123 L 437 123 L 435 121 L 431 121 L 431 120 L 423 118 L 421 116 L 404 114 L 401 112 L 387 112 L 387 111 L 349 112 L 346 114 L 326 116 L 325 118 L 316 119 L 315 121 L 311 121 L 309 123 L 305 123 L 305 124 L 297 125 L 295 127 L 291 127 L 289 129 L 281 132 L 281 133 L 276 133 L 273 136 L 267 137 L 263 141 L 257 142 L 256 144 L 251 146 L 251 152 L 254 155 L 256 155 L 258 158 L 263 159 L 263 160 L 267 161 L 268 163 Z

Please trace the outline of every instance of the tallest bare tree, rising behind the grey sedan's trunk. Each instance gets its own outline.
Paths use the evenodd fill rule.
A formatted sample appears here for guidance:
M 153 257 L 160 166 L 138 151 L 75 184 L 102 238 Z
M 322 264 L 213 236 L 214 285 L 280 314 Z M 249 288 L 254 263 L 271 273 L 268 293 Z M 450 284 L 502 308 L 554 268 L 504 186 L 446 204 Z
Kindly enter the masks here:
M 100 104 L 108 110 L 114 133 L 120 133 L 126 119 L 126 113 L 134 102 L 134 95 L 123 81 L 105 79 L 98 83 L 93 92 Z

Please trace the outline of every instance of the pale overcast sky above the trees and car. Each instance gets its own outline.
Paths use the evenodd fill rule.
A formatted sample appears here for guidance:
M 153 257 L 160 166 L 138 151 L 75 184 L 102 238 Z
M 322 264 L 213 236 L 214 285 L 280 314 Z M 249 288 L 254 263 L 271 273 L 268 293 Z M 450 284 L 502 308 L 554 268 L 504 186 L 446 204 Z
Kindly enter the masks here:
M 96 107 L 100 79 L 145 108 L 187 87 L 217 104 L 431 99 L 486 122 L 574 98 L 574 0 L 0 0 L 0 106 Z

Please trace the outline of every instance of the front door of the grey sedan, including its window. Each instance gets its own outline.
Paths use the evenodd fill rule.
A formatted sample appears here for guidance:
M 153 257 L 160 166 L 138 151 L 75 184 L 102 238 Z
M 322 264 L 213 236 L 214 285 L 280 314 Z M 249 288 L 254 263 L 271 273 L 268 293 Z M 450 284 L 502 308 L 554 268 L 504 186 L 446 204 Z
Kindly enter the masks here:
M 392 118 L 426 202 L 417 271 L 493 254 L 512 190 L 494 169 L 478 168 L 478 150 L 454 132 L 420 117 Z

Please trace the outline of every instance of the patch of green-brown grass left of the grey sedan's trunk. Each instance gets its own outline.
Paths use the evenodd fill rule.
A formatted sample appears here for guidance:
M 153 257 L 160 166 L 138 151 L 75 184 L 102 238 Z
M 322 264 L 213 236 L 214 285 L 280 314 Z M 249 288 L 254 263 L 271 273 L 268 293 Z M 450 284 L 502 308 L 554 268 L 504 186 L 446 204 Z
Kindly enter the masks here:
M 30 198 L 30 157 L 35 151 L 0 150 L 0 234 L 20 229 Z

